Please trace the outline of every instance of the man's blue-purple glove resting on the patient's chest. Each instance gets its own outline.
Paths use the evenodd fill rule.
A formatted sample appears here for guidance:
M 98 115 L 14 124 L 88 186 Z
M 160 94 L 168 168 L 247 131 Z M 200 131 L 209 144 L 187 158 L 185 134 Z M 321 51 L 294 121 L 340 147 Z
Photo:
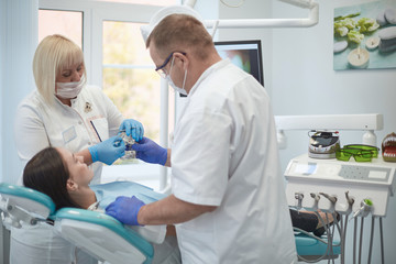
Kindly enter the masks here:
M 144 202 L 138 199 L 135 196 L 117 197 L 116 201 L 111 202 L 106 208 L 106 213 L 116 218 L 122 223 L 130 226 L 140 226 L 138 222 L 138 213 Z

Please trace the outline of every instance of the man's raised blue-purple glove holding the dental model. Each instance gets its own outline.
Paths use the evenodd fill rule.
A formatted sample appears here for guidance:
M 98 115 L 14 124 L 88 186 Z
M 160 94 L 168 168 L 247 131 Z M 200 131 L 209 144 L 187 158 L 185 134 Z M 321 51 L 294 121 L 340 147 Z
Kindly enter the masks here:
M 146 162 L 165 165 L 167 150 L 157 145 L 154 141 L 143 136 L 139 144 L 133 144 L 132 150 L 136 152 L 136 157 Z

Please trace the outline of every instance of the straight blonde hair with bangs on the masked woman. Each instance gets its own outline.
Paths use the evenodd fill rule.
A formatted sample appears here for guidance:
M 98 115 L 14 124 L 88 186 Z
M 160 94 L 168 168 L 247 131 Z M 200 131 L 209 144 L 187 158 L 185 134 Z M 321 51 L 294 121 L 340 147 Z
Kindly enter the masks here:
M 40 95 L 52 105 L 56 76 L 65 68 L 84 65 L 81 48 L 63 35 L 48 35 L 38 44 L 33 58 L 33 75 Z M 86 70 L 84 67 L 84 76 Z M 87 78 L 85 78 L 87 79 Z

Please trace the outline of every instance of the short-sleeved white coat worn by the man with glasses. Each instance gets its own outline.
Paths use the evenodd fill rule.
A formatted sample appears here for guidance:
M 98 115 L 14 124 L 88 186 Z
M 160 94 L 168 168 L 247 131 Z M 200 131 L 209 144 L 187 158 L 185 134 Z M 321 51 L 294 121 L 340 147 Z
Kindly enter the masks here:
M 218 206 L 176 226 L 183 263 L 297 262 L 270 98 L 229 61 L 186 98 L 172 174 L 177 198 Z

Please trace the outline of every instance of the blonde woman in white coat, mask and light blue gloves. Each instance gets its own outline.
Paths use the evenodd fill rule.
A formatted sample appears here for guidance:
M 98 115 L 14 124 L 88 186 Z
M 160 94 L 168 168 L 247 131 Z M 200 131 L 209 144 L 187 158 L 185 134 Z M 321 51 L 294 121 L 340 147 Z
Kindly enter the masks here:
M 86 85 L 82 51 L 65 36 L 50 35 L 38 44 L 33 74 L 37 89 L 19 105 L 14 125 L 23 166 L 41 150 L 61 146 L 82 156 L 94 169 L 92 183 L 99 183 L 102 163 L 110 165 L 124 154 L 123 142 L 113 144 L 119 129 L 140 141 L 142 124 L 123 120 L 99 87 Z M 13 229 L 11 237 L 11 263 L 94 263 L 48 224 Z

